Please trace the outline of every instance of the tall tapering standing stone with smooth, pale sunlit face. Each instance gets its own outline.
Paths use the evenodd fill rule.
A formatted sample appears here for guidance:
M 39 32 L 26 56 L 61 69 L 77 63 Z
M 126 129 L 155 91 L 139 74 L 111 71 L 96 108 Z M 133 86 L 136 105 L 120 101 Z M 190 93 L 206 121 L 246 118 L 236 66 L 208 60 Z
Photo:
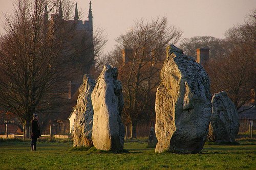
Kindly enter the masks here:
M 94 147 L 105 151 L 123 150 L 124 126 L 121 122 L 123 95 L 117 68 L 105 65 L 92 92 Z

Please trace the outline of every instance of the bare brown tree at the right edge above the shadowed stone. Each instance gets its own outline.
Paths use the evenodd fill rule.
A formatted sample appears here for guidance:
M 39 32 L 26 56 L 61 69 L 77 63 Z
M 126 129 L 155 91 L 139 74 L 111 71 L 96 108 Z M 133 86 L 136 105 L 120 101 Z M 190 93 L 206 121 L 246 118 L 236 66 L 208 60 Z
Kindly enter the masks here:
M 229 29 L 225 36 L 227 54 L 217 57 L 206 66 L 212 93 L 222 90 L 239 110 L 251 99 L 256 84 L 256 11 L 243 24 Z

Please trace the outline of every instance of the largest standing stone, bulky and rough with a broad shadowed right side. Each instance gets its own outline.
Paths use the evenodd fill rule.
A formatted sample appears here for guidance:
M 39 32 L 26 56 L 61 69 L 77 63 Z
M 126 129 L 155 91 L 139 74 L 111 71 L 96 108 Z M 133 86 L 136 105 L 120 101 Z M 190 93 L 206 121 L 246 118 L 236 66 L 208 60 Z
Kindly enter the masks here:
M 192 57 L 170 45 L 156 93 L 156 152 L 199 153 L 208 133 L 208 75 Z

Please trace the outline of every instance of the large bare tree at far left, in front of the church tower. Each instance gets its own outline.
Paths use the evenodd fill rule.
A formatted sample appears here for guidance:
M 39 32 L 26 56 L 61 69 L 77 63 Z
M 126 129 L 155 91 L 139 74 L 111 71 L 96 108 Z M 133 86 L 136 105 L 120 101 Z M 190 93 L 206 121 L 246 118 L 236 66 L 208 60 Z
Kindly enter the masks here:
M 72 75 L 74 25 L 65 22 L 72 7 L 69 0 L 17 0 L 14 14 L 5 15 L 0 105 L 20 117 L 26 130 L 33 112 L 51 109 L 62 97 L 61 87 Z

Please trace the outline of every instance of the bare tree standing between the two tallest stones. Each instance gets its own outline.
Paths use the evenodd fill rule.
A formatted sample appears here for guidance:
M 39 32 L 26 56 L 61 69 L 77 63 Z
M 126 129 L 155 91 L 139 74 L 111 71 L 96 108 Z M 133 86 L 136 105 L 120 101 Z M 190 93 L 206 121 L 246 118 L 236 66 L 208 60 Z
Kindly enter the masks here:
M 181 34 L 176 27 L 168 26 L 167 18 L 162 17 L 151 21 L 137 20 L 131 30 L 117 39 L 119 44 L 110 56 L 119 68 L 125 102 L 124 118 L 131 123 L 132 138 L 137 137 L 138 122 L 154 119 L 155 93 L 165 48 L 168 43 L 177 43 Z M 130 55 L 126 54 L 123 61 L 122 50 L 125 49 Z

